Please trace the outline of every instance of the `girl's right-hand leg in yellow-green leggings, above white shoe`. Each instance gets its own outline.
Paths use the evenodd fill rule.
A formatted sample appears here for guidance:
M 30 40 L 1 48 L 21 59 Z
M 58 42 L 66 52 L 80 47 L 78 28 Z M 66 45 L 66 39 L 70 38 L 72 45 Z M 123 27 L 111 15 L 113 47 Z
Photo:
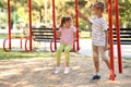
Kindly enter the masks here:
M 64 48 L 64 54 L 66 54 L 66 66 L 69 66 L 70 63 L 70 51 L 72 49 L 72 45 L 68 44 Z

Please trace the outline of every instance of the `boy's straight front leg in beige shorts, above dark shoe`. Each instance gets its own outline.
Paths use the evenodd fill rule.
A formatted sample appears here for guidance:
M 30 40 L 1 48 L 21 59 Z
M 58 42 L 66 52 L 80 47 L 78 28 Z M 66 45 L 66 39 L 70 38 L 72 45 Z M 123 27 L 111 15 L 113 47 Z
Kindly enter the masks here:
M 99 73 L 99 59 L 98 59 L 98 47 L 93 45 L 93 61 L 95 66 L 95 73 Z

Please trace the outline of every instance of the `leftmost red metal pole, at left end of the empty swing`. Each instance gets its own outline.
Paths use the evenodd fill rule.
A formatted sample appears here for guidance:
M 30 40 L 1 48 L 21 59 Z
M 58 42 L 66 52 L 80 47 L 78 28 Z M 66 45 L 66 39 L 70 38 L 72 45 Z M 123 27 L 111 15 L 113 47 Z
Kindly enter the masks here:
M 9 17 L 9 50 L 11 50 L 11 4 L 8 0 L 8 17 Z

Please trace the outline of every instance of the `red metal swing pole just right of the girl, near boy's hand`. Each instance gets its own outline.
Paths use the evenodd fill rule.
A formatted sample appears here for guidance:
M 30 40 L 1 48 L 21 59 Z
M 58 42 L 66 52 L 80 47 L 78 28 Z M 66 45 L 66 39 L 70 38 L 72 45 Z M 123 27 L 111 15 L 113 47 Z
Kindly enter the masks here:
M 76 50 L 80 49 L 80 42 L 79 42 L 79 2 L 75 0 L 75 13 L 76 13 Z

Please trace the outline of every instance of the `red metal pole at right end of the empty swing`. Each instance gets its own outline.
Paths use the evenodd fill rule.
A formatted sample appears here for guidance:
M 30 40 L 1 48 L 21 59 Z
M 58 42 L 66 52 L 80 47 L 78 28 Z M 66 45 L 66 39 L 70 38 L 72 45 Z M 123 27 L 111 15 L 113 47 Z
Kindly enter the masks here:
M 29 50 L 33 50 L 32 41 L 32 0 L 28 0 L 28 18 L 29 18 Z

